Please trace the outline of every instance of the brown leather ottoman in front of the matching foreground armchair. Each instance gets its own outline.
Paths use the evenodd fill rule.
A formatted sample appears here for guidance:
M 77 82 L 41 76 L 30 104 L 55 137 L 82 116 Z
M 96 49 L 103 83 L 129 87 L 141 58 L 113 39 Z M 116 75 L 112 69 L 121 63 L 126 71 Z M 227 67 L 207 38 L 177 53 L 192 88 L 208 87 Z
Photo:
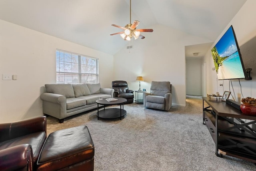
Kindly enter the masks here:
M 87 126 L 50 133 L 37 161 L 38 171 L 94 170 L 94 144 Z

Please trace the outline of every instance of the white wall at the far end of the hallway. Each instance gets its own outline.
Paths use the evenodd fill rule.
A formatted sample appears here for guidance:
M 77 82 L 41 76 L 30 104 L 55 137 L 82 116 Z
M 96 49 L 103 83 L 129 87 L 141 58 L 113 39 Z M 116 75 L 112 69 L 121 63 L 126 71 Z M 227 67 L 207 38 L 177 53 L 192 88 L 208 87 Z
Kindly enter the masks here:
M 202 60 L 186 58 L 186 94 L 202 95 Z

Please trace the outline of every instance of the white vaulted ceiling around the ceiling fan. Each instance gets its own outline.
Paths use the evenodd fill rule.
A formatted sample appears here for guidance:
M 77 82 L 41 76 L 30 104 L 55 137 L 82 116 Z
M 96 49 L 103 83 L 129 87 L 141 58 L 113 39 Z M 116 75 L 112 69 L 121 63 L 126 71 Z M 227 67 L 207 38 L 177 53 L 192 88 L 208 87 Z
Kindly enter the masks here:
M 245 2 L 132 0 L 131 20 L 140 21 L 137 28 L 160 24 L 214 42 Z M 130 0 L 0 0 L 0 19 L 114 55 L 127 42 L 110 36 L 122 31 L 111 24 L 130 23 Z

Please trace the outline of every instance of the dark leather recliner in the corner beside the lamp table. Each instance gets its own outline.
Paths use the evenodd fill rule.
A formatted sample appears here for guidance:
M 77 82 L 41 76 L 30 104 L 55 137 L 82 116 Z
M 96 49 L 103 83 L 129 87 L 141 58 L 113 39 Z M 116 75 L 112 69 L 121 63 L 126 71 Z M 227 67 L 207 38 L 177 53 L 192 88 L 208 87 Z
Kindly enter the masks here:
M 114 97 L 122 97 L 127 99 L 125 104 L 133 103 L 133 90 L 128 88 L 126 81 L 113 81 L 112 89 L 114 89 Z

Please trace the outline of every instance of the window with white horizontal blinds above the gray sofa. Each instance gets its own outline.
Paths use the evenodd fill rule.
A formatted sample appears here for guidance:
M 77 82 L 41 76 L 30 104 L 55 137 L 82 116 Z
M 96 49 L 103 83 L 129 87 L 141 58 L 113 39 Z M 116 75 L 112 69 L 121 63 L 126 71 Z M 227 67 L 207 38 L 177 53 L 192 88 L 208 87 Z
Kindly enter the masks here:
M 56 83 L 98 83 L 98 59 L 56 50 Z

